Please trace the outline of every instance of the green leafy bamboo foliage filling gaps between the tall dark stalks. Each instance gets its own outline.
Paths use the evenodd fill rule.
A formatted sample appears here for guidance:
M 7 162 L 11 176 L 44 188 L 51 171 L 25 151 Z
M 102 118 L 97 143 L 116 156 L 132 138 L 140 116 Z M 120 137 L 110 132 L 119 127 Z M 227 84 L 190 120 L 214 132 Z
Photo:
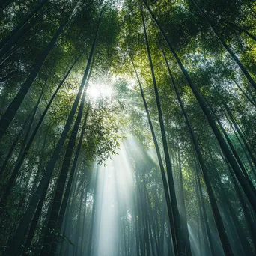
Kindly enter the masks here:
M 19 22 L 37 6 L 38 2 L 35 0 L 15 0 L 1 11 L 1 40 L 7 37 L 13 28 L 19 25 Z M 219 36 L 228 44 L 232 52 L 237 55 L 237 58 L 240 59 L 252 78 L 256 80 L 255 1 L 198 0 L 196 2 L 213 23 Z M 231 55 L 222 46 L 213 29 L 210 28 L 210 25 L 205 21 L 198 8 L 195 7 L 193 1 L 152 0 L 147 1 L 147 3 L 162 25 L 168 40 L 170 40 L 186 70 L 188 70 L 189 76 L 195 83 L 196 88 L 200 91 L 207 104 L 211 106 L 212 115 L 214 112 L 225 128 L 228 137 L 231 139 L 249 174 L 249 178 L 252 180 L 252 184 L 255 186 L 256 172 L 252 159 L 252 156 L 256 157 L 256 94 L 254 88 L 243 75 L 234 59 L 231 58 Z M 1 216 L 3 224 L 0 235 L 2 251 L 6 248 L 7 240 L 10 239 L 20 219 L 22 219 L 31 195 L 33 195 L 41 177 L 43 177 L 46 165 L 49 159 L 51 159 L 52 152 L 55 150 L 58 139 L 64 129 L 85 72 L 88 55 L 94 42 L 100 11 L 104 6 L 103 1 L 47 1 L 45 6 L 33 17 L 34 19 L 40 16 L 41 13 L 40 19 L 28 31 L 22 33 L 19 40 L 10 47 L 10 51 L 0 58 L 0 115 L 3 115 L 7 106 L 9 106 L 19 91 L 20 86 L 28 77 L 31 68 L 37 64 L 40 52 L 46 48 L 56 29 L 58 29 L 64 17 L 73 10 L 75 4 L 76 8 L 69 22 L 46 58 L 40 73 L 28 91 L 28 95 L 25 97 L 10 128 L 7 130 L 7 134 L 1 140 L 0 164 L 2 165 L 16 136 L 19 135 L 24 121 L 37 103 L 41 90 L 44 90 L 43 98 L 37 109 L 31 131 L 28 131 L 28 137 L 36 127 L 37 121 L 39 121 L 43 110 L 49 103 L 59 82 L 63 79 L 64 74 L 67 73 L 73 61 L 81 55 L 81 58 L 73 67 L 70 76 L 67 77 L 64 85 L 58 91 L 46 117 L 43 119 L 43 124 L 37 132 L 31 149 L 28 150 L 19 174 L 16 177 L 15 186 L 13 186 L 12 192 L 4 204 L 1 204 L 5 200 L 3 199 L 4 189 L 7 187 L 16 161 L 24 149 L 22 144 L 27 142 L 23 141 L 28 128 L 27 124 L 25 124 L 25 130 L 22 132 L 22 135 L 17 139 L 13 153 L 7 162 L 3 174 L 1 174 L 0 209 L 3 212 Z M 136 147 L 144 147 L 144 150 L 141 150 L 142 153 L 137 152 L 136 156 L 130 156 L 135 170 L 140 171 L 138 177 L 135 177 L 136 171 L 134 173 L 136 193 L 139 193 L 138 189 L 141 189 L 141 187 L 146 187 L 150 200 L 148 204 L 156 212 L 154 218 L 156 218 L 157 225 L 161 225 L 162 216 L 159 201 L 164 198 L 162 181 L 159 167 L 151 157 L 153 155 L 151 151 L 154 147 L 153 139 L 131 63 L 132 58 L 141 80 L 160 151 L 163 153 L 158 111 L 144 42 L 140 5 L 144 11 L 156 83 L 165 122 L 165 131 L 168 138 L 168 147 L 174 169 L 174 180 L 175 184 L 177 184 L 175 189 L 178 191 L 177 194 L 184 192 L 187 222 L 193 226 L 198 222 L 198 219 L 201 219 L 200 224 L 198 224 L 198 231 L 204 230 L 204 225 L 202 224 L 204 218 L 200 213 L 201 204 L 204 203 L 207 206 L 207 216 L 210 219 L 210 225 L 213 226 L 213 234 L 216 234 L 204 179 L 201 179 L 204 198 L 200 199 L 197 195 L 198 183 L 195 177 L 197 166 L 195 164 L 195 155 L 171 84 L 171 79 L 168 75 L 165 60 L 162 56 L 162 49 L 167 55 L 171 72 L 177 83 L 185 112 L 201 147 L 202 155 L 207 165 L 210 166 L 209 174 L 212 179 L 214 194 L 217 196 L 218 205 L 222 209 L 222 204 L 225 204 L 225 198 L 219 197 L 219 191 L 222 191 L 223 186 L 226 197 L 230 199 L 231 205 L 234 208 L 234 215 L 239 216 L 240 226 L 246 232 L 249 243 L 252 243 L 252 237 L 250 237 L 251 235 L 246 230 L 247 226 L 243 207 L 240 204 L 240 199 L 237 198 L 234 183 L 229 175 L 225 159 L 222 158 L 222 151 L 219 148 L 215 135 L 213 135 L 213 131 L 202 109 L 198 105 L 189 85 L 187 85 L 186 79 L 174 60 L 173 55 L 171 55 L 159 29 L 156 27 L 155 22 L 153 22 L 150 13 L 144 7 L 143 1 L 109 1 L 103 13 L 95 46 L 94 64 L 91 67 L 92 73 L 89 88 L 95 87 L 100 81 L 101 84 L 106 85 L 109 91 L 112 91 L 112 94 L 108 97 L 101 95 L 95 100 L 90 95 L 89 90 L 86 92 L 85 111 L 89 108 L 89 114 L 79 154 L 77 167 L 79 171 L 77 171 L 76 175 L 77 177 L 83 177 L 85 166 L 86 168 L 88 166 L 91 168 L 94 162 L 100 165 L 106 164 L 107 159 L 118 154 L 117 150 L 121 142 L 129 138 L 130 135 L 134 136 L 140 145 L 136 145 Z M 85 118 L 85 111 L 82 121 Z M 78 110 L 76 115 L 77 112 Z M 231 115 L 234 121 L 232 121 Z M 249 155 L 249 149 L 246 149 L 241 135 L 237 134 L 234 122 L 240 127 L 245 141 L 249 144 L 249 149 L 252 150 L 252 156 Z M 56 180 L 59 177 L 59 170 L 61 169 L 71 130 L 72 128 L 61 150 L 54 174 L 49 180 L 49 189 L 43 204 L 44 210 L 42 210 L 41 219 L 35 231 L 37 237 L 40 237 L 40 234 L 43 232 L 43 221 L 46 218 L 47 209 L 50 209 L 52 193 L 55 191 Z M 81 132 L 82 125 L 79 127 L 79 135 Z M 76 138 L 76 146 L 79 141 L 79 135 Z M 178 160 L 178 154 L 181 155 L 181 162 Z M 73 159 L 74 154 L 72 155 Z M 180 180 L 180 169 L 183 176 L 183 186 Z M 91 169 L 91 172 L 88 171 L 89 177 L 94 176 L 92 170 L 94 169 Z M 76 195 L 82 198 L 82 192 L 81 195 L 79 190 L 76 193 Z M 91 195 L 91 201 L 88 203 L 91 208 L 92 202 L 94 202 L 92 198 L 93 196 Z M 73 201 L 75 200 L 73 198 Z M 181 198 L 178 198 L 178 203 L 180 207 L 182 204 Z M 248 202 L 246 201 L 247 204 Z M 78 208 L 74 212 L 71 216 L 76 216 Z M 228 213 L 228 210 L 222 209 L 222 215 L 225 216 L 225 219 L 229 218 L 227 217 Z M 127 216 L 123 219 L 127 218 Z M 138 216 L 136 218 L 138 219 Z M 125 222 L 128 223 L 127 219 Z M 168 230 L 166 223 L 164 228 Z M 62 237 L 63 240 L 69 240 L 61 232 L 58 232 L 58 236 L 58 238 Z M 200 235 L 198 235 L 198 240 L 200 240 Z M 33 255 L 34 252 L 32 251 L 40 248 L 40 243 L 41 241 L 38 241 L 36 236 L 34 236 L 31 247 L 27 249 L 28 255 L 30 253 Z

